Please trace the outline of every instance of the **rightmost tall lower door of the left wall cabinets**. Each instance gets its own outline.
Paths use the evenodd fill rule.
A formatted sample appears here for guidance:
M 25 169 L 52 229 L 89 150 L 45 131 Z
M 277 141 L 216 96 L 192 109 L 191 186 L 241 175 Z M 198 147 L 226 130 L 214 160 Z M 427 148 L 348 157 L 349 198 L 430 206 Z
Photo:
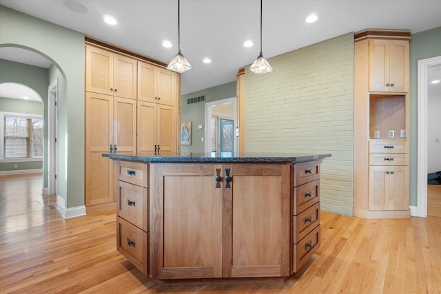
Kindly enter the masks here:
M 168 105 L 157 105 L 157 121 L 158 128 L 156 144 L 158 145 L 159 154 L 167 152 L 176 152 L 176 115 L 174 107 Z

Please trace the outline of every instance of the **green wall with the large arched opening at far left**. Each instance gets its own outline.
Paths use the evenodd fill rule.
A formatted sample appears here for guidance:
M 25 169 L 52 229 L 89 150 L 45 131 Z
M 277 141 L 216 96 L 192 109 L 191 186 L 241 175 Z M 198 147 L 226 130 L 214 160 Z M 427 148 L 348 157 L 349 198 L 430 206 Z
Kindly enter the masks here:
M 52 61 L 63 76 L 59 148 L 64 154 L 59 162 L 65 163 L 59 168 L 59 196 L 67 208 L 84 205 L 84 34 L 0 6 L 0 36 L 1 47 L 37 52 Z

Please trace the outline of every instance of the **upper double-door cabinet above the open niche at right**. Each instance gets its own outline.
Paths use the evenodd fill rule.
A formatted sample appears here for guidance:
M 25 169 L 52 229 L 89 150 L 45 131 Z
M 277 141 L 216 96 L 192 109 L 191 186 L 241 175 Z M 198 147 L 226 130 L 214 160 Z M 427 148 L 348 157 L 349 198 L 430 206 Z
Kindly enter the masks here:
M 369 90 L 409 92 L 409 41 L 369 40 Z

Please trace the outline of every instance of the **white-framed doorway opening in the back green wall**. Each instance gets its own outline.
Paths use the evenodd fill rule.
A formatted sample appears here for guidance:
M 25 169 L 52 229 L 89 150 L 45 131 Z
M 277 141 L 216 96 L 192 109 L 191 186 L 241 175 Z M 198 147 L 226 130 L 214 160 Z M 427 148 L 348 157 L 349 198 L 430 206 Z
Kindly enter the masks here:
M 205 153 L 214 157 L 238 154 L 237 98 L 205 103 Z

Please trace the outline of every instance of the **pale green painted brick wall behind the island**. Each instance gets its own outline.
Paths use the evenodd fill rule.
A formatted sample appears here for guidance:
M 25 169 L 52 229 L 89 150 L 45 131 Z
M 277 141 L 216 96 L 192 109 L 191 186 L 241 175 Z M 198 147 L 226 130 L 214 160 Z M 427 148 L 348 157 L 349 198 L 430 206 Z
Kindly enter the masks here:
M 353 33 L 245 70 L 245 151 L 332 154 L 322 162 L 323 211 L 352 215 Z

